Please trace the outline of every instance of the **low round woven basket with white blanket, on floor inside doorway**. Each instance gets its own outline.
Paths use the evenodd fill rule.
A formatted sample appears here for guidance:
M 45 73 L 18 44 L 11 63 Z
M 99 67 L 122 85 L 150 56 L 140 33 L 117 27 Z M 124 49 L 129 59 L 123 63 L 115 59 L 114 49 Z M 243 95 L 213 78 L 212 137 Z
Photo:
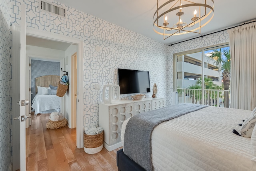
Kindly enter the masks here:
M 58 129 L 66 126 L 68 120 L 62 113 L 52 112 L 49 117 L 49 121 L 46 123 L 46 128 L 48 129 Z

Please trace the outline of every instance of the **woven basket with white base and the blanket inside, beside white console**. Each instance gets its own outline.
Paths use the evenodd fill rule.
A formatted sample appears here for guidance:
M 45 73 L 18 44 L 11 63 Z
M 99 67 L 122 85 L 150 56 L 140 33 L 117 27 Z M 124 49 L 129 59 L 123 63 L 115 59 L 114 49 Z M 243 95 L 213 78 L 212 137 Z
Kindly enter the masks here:
M 84 151 L 95 154 L 103 148 L 103 128 L 89 126 L 84 128 Z

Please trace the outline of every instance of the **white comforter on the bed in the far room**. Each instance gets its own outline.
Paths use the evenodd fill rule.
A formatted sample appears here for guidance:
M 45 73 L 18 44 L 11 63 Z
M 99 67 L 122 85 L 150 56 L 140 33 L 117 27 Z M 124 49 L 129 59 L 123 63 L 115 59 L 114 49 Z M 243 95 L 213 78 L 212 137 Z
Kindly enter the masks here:
M 35 109 L 35 115 L 38 113 L 51 113 L 60 111 L 60 97 L 57 95 L 38 95 L 32 100 L 32 108 Z

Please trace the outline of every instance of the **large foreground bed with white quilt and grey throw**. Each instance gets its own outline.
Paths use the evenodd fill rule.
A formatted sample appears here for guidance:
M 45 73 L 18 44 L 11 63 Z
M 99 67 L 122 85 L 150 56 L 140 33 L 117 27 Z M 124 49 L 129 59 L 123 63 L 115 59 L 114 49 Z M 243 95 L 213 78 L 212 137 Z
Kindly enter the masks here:
M 256 170 L 256 129 L 253 129 L 252 138 L 232 132 L 233 129 L 240 131 L 239 124 L 250 117 L 252 111 L 205 106 L 164 121 L 153 128 L 152 135 L 147 135 L 150 131 L 146 127 L 151 124 L 147 120 L 151 119 L 146 115 L 160 118 L 161 113 L 175 111 L 174 107 L 183 110 L 193 108 L 193 105 L 183 103 L 164 107 L 124 121 L 121 130 L 123 149 L 117 152 L 118 170 Z M 136 122 L 140 118 L 145 124 Z M 151 141 L 149 145 L 145 143 L 147 139 Z

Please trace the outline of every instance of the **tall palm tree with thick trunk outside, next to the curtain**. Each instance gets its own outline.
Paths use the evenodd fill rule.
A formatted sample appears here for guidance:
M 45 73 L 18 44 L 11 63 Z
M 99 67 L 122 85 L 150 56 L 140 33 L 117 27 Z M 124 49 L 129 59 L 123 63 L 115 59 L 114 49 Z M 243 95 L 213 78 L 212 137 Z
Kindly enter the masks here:
M 210 60 L 214 62 L 217 68 L 220 68 L 222 71 L 222 81 L 224 85 L 224 90 L 228 90 L 230 87 L 230 49 L 225 49 L 218 51 L 214 49 L 210 56 L 208 56 Z M 229 92 L 224 93 L 224 107 L 229 107 Z

